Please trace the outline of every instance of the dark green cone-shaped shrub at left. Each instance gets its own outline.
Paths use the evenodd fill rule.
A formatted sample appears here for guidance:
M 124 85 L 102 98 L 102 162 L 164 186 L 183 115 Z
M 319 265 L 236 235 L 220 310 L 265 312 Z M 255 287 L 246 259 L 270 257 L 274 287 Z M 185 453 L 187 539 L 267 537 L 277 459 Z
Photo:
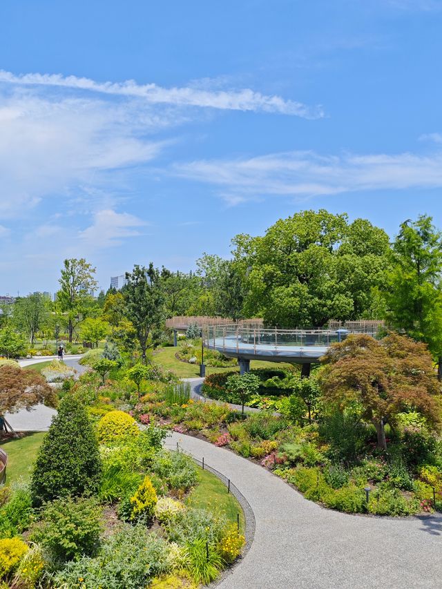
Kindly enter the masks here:
M 67 394 L 39 448 L 30 484 L 32 499 L 39 505 L 60 496 L 96 492 L 100 476 L 97 438 L 86 409 Z

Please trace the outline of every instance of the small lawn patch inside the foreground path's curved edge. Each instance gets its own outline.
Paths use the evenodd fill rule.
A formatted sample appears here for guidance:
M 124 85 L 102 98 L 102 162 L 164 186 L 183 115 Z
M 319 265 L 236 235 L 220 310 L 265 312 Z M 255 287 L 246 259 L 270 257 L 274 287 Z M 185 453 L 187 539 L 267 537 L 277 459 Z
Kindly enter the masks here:
M 236 523 L 240 514 L 240 530 L 244 533 L 244 513 L 236 497 L 227 492 L 227 486 L 208 470 L 198 467 L 198 485 L 191 491 L 186 504 L 193 508 L 223 513 L 229 521 Z

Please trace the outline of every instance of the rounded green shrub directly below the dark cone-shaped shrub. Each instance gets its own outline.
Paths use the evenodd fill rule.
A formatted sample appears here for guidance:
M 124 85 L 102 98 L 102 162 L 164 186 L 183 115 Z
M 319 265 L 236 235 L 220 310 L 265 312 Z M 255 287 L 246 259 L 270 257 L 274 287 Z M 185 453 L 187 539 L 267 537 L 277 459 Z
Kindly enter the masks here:
M 32 539 L 58 562 L 97 552 L 102 510 L 95 499 L 66 497 L 47 503 Z

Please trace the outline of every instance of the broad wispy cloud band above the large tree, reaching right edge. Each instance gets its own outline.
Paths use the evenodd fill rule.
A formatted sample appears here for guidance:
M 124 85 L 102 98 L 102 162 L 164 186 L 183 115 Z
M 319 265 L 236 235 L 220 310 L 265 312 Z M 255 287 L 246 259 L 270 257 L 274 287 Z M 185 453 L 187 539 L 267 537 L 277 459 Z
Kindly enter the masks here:
M 237 160 L 200 160 L 175 166 L 180 177 L 218 186 L 235 205 L 269 195 L 303 199 L 354 191 L 442 187 L 442 152 L 318 155 L 275 153 Z

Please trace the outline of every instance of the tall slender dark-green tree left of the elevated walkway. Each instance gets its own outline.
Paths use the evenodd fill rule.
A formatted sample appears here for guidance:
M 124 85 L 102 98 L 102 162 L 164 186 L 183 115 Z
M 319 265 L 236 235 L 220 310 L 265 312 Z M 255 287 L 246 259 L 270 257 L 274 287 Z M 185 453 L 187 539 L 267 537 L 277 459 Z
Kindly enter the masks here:
M 153 264 L 135 265 L 132 272 L 126 272 L 123 287 L 126 302 L 126 316 L 132 322 L 140 342 L 142 361 L 146 364 L 146 349 L 153 332 L 160 329 L 164 321 L 164 295 L 160 284 L 160 273 Z

